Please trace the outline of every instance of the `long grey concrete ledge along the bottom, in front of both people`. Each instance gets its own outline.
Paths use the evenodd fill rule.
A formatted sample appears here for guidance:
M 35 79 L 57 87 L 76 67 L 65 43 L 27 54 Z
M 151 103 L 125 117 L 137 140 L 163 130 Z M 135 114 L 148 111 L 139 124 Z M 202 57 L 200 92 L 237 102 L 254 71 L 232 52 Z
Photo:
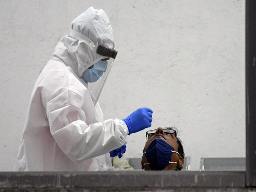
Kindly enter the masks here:
M 245 172 L 0 172 L 2 191 L 256 191 Z

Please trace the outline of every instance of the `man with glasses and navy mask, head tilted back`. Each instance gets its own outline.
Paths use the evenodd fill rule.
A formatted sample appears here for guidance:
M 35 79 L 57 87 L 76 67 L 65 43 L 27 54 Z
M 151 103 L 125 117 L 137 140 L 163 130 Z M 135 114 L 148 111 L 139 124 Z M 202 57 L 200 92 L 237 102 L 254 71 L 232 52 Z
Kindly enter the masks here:
M 176 128 L 157 128 L 146 132 L 146 144 L 141 160 L 145 170 L 181 170 L 184 151 Z

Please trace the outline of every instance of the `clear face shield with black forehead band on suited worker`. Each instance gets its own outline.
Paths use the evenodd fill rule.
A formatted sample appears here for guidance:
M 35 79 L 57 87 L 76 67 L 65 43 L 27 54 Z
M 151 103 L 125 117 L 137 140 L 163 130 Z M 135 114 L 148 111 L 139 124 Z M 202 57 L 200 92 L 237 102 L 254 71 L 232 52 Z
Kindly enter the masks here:
M 96 105 L 96 103 L 98 102 L 99 96 L 102 92 L 104 84 L 108 78 L 108 74 L 109 74 L 111 67 L 113 65 L 113 62 L 116 58 L 117 51 L 115 51 L 114 49 L 108 49 L 102 45 L 99 45 L 99 47 L 97 48 L 97 53 L 99 55 L 108 57 L 107 58 L 108 66 L 107 66 L 106 71 L 96 82 L 88 83 L 88 89 L 92 95 L 94 105 Z

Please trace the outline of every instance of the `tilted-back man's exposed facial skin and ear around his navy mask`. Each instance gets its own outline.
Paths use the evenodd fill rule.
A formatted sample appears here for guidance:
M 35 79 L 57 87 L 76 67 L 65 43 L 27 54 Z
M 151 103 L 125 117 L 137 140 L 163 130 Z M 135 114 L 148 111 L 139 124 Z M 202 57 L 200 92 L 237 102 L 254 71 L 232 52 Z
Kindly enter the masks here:
M 152 143 L 152 141 L 154 141 L 156 139 L 163 140 L 164 142 L 171 145 L 174 148 L 174 151 L 178 151 L 178 142 L 177 142 L 177 138 L 176 138 L 175 134 L 165 133 L 164 129 L 159 127 L 159 128 L 157 128 L 157 130 L 155 131 L 154 134 L 149 136 L 149 138 L 148 138 L 148 140 L 145 144 L 143 153 L 147 150 L 148 146 Z M 180 157 L 177 153 L 172 154 L 172 157 L 171 157 L 170 161 L 171 162 L 177 162 L 177 164 L 176 163 L 169 163 L 169 165 L 166 166 L 163 170 L 173 170 L 177 166 L 180 167 L 180 168 L 183 167 L 183 162 L 184 162 L 183 158 Z M 145 154 L 143 154 L 142 161 L 141 161 L 142 168 L 145 169 L 145 170 L 151 170 L 148 165 L 143 165 L 145 163 L 148 163 L 148 160 L 147 160 Z

